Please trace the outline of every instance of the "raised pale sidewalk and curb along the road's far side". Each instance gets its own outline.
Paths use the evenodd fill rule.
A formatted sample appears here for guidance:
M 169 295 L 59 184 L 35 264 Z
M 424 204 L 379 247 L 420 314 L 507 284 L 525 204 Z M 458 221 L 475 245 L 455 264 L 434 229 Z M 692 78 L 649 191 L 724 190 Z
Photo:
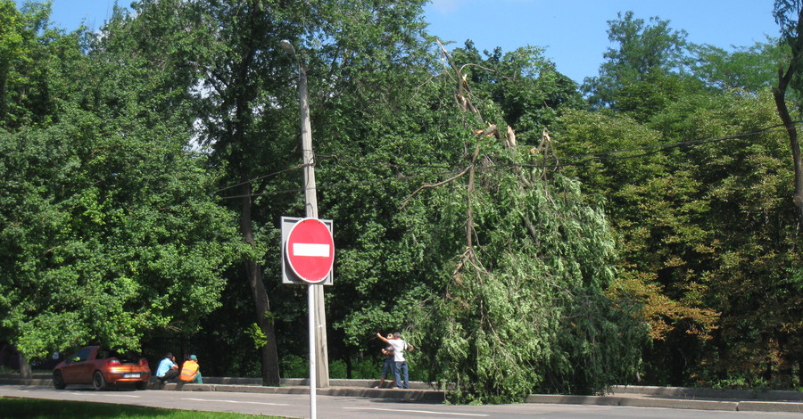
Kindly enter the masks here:
M 34 374 L 21 380 L 0 374 L 0 385 L 52 386 L 49 374 Z M 374 389 L 377 380 L 329 380 L 323 396 L 389 398 L 409 401 L 443 402 L 444 392 L 426 382 L 410 382 L 410 390 Z M 152 380 L 148 389 L 168 391 L 220 391 L 277 394 L 309 394 L 306 379 L 282 379 L 280 387 L 265 387 L 259 378 L 203 377 L 203 384 L 160 383 Z M 803 414 L 803 392 L 782 390 L 717 390 L 688 387 L 614 386 L 604 396 L 533 394 L 526 403 L 574 404 L 627 407 L 665 407 L 674 409 L 787 412 Z M 801 416 L 803 417 L 803 416 Z

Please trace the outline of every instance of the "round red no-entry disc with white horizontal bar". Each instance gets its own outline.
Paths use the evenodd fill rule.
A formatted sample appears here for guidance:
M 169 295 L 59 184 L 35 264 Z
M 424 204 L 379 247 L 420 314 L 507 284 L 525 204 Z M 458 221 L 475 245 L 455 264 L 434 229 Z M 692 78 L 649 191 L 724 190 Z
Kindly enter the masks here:
M 335 262 L 332 232 L 318 218 L 303 218 L 287 234 L 285 255 L 299 279 L 308 283 L 323 282 Z

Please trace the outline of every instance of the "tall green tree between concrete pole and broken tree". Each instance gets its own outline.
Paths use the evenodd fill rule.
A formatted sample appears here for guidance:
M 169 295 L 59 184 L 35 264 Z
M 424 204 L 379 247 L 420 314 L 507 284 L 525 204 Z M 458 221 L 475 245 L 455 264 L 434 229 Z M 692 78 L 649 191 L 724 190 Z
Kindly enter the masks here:
M 424 2 L 373 2 L 340 10 L 333 45 L 310 59 L 319 209 L 335 219 L 336 286 L 327 289 L 332 356 L 363 357 L 377 330 L 406 324 L 409 293 L 426 272 L 420 249 L 402 242 L 400 202 L 411 178 L 443 171 L 451 128 L 433 97 L 433 56 L 421 21 Z M 313 55 L 313 56 L 315 56 Z M 448 168 L 447 168 L 448 169 Z M 370 350 L 375 356 L 377 351 Z

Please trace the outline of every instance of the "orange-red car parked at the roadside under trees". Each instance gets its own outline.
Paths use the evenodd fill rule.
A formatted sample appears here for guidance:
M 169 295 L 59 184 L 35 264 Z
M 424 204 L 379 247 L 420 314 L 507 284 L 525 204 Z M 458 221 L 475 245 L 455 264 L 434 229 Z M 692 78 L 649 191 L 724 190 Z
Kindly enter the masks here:
M 79 349 L 53 369 L 53 386 L 58 390 L 67 384 L 92 384 L 95 390 L 103 390 L 119 383 L 145 390 L 150 379 L 151 367 L 144 357 L 121 357 L 99 346 Z

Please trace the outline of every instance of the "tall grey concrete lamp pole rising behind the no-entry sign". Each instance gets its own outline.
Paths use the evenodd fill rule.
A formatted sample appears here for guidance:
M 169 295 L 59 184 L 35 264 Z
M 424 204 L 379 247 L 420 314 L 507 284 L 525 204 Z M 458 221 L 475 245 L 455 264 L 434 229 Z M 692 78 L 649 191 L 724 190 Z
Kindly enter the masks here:
M 295 48 L 290 41 L 283 40 L 281 45 L 282 49 L 293 55 L 298 63 L 298 96 L 299 103 L 301 104 L 302 152 L 304 158 L 305 217 L 318 218 L 318 194 L 315 189 L 315 155 L 312 152 L 312 127 L 310 123 L 310 103 L 307 94 L 307 70 L 302 60 L 295 54 Z M 307 286 L 310 287 L 310 307 L 314 305 L 314 366 L 316 366 L 314 379 L 319 389 L 327 389 L 329 387 L 329 362 L 327 351 L 327 314 L 324 310 L 324 286 L 323 284 L 310 284 Z M 310 333 L 310 339 L 311 334 L 312 333 Z

